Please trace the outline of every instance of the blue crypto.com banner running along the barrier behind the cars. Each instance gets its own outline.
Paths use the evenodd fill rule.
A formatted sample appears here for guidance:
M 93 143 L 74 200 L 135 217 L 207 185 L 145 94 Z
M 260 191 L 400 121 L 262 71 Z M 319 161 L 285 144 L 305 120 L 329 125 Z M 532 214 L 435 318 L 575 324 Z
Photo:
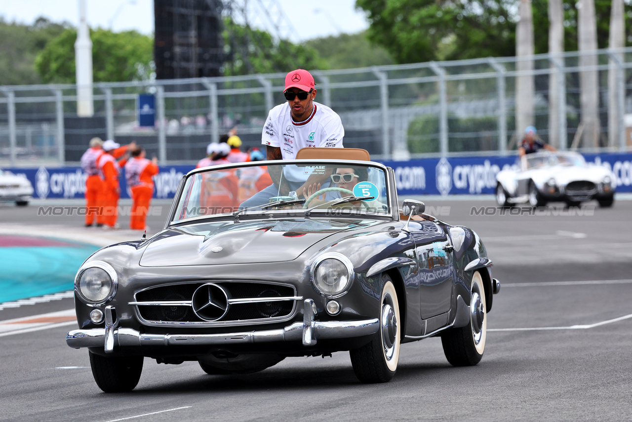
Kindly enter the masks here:
M 617 192 L 632 192 L 632 154 L 585 154 L 588 163 L 605 166 L 616 178 Z M 480 156 L 458 158 L 424 158 L 410 161 L 383 161 L 395 171 L 398 194 L 401 195 L 463 195 L 493 194 L 496 173 L 516 166 L 516 157 Z M 160 166 L 154 177 L 155 198 L 173 198 L 183 175 L 191 166 Z M 33 184 L 33 197 L 82 198 L 87 175 L 78 167 L 7 168 L 25 175 Z M 121 197 L 130 194 L 121 171 Z

